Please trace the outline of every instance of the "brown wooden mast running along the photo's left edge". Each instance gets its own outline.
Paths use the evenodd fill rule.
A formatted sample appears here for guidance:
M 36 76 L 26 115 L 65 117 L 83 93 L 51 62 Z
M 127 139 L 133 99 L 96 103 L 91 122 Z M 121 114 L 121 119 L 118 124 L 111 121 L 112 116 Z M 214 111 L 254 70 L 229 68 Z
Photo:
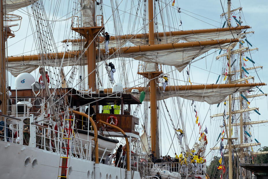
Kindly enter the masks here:
M 3 114 L 7 114 L 7 88 L 6 88 L 6 78 L 5 78 L 5 35 L 4 31 L 4 20 L 3 20 L 3 0 L 0 0 L 0 43 L 1 43 L 1 63 L 0 63 L 0 96 L 1 96 L 1 111 Z

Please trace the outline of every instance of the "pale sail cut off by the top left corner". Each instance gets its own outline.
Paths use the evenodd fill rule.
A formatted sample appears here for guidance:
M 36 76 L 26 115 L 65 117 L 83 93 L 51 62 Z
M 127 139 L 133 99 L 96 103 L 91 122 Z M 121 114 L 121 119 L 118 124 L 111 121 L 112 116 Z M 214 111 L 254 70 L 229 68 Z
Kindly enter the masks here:
M 36 1 L 38 1 L 38 0 L 36 0 Z M 36 2 L 36 1 L 31 1 L 31 0 L 6 0 L 3 9 L 5 10 L 5 13 L 9 13 L 9 12 L 12 12 L 14 10 L 29 6 L 33 2 Z

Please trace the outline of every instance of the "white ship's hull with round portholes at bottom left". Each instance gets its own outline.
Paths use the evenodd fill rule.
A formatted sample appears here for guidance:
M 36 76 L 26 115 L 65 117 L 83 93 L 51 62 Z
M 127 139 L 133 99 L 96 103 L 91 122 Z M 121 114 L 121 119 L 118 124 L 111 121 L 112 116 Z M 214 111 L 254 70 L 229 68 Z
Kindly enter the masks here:
M 58 176 L 61 164 L 60 155 L 57 153 L 4 141 L 0 141 L 0 151 L 1 178 L 47 179 Z M 30 159 L 30 162 L 25 166 L 27 158 Z M 35 159 L 36 164 L 33 162 Z M 125 178 L 126 176 L 125 169 L 118 167 L 95 164 L 92 161 L 75 157 L 70 158 L 69 161 L 71 163 L 69 167 L 72 168 L 68 176 L 69 179 L 98 178 L 95 173 L 96 167 L 99 167 L 100 179 Z M 133 178 L 140 178 L 137 171 L 132 174 Z

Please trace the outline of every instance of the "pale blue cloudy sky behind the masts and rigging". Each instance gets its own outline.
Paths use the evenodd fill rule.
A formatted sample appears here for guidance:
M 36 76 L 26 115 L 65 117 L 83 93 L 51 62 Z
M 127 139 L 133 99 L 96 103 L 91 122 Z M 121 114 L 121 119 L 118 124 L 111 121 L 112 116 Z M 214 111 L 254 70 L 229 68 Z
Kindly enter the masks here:
M 106 2 L 107 1 L 107 2 Z M 165 0 L 166 2 L 168 2 L 168 0 Z M 47 1 L 45 1 L 47 2 Z M 118 2 L 120 3 L 121 0 L 118 0 Z M 128 1 L 130 2 L 130 1 Z M 161 2 L 161 1 L 160 1 Z M 104 21 L 106 22 L 107 19 L 109 19 L 109 17 L 111 16 L 112 12 L 109 8 L 109 6 L 111 6 L 111 3 L 108 2 L 108 0 L 105 0 L 105 6 L 103 6 L 103 10 L 104 10 Z M 122 2 L 122 4 L 120 5 L 120 10 L 124 11 L 125 9 L 128 10 L 130 9 L 132 6 L 130 4 L 124 4 L 125 2 Z M 170 1 L 170 5 L 171 5 L 171 1 Z M 169 6 L 170 6 L 169 5 Z M 224 10 L 226 11 L 226 7 L 227 7 L 227 1 L 222 0 L 222 5 Z M 259 48 L 258 51 L 256 52 L 252 52 L 252 60 L 255 61 L 255 66 L 261 65 L 263 66 L 263 69 L 258 71 L 258 76 L 261 80 L 261 82 L 265 82 L 267 83 L 268 81 L 268 77 L 267 77 L 267 72 L 265 72 L 267 70 L 268 64 L 267 64 L 267 18 L 268 17 L 268 2 L 263 0 L 263 1 L 249 1 L 249 0 L 243 0 L 241 1 L 241 5 L 240 5 L 240 1 L 232 1 L 232 9 L 238 8 L 238 7 L 243 7 L 243 14 L 242 14 L 242 25 L 250 25 L 252 26 L 252 29 L 248 29 L 247 31 L 254 31 L 253 35 L 249 35 L 247 36 L 247 39 L 249 40 L 249 42 L 253 45 L 252 48 Z M 63 14 L 67 14 L 70 12 L 70 9 L 72 8 L 72 5 L 70 5 L 70 9 L 68 12 L 66 12 L 66 10 L 64 8 L 68 7 L 68 4 L 65 3 L 62 6 L 60 6 L 60 12 L 58 14 L 58 18 L 62 17 Z M 191 29 L 205 29 L 205 28 L 219 28 L 223 25 L 223 22 L 225 21 L 224 19 L 220 18 L 220 14 L 223 12 L 222 7 L 221 7 L 221 2 L 220 0 L 207 0 L 207 1 L 197 1 L 197 0 L 189 0 L 189 1 L 178 1 L 175 0 L 175 6 L 174 6 L 174 12 L 177 11 L 177 7 L 181 8 L 181 13 L 172 13 L 170 14 L 170 16 L 168 14 L 165 14 L 165 18 L 167 19 L 167 22 L 172 21 L 172 23 L 179 23 L 179 19 L 181 19 L 182 21 L 182 26 L 179 27 L 179 30 L 191 30 Z M 171 7 L 169 7 L 171 8 Z M 135 12 L 136 7 L 132 7 L 132 11 Z M 21 15 L 23 17 L 22 20 L 22 24 L 21 24 L 21 28 L 18 32 L 15 32 L 16 37 L 12 38 L 12 39 L 8 39 L 8 56 L 11 55 L 21 55 L 22 53 L 25 54 L 34 54 L 36 53 L 36 51 L 32 51 L 35 47 L 34 47 L 34 41 L 33 41 L 33 36 L 31 36 L 30 34 L 32 34 L 32 30 L 31 30 L 31 26 L 29 24 L 29 18 L 26 15 L 27 9 L 23 8 L 20 10 L 17 10 L 14 12 L 14 14 L 18 14 Z M 235 13 L 237 14 L 237 13 Z M 175 15 L 174 17 L 171 17 Z M 66 17 L 70 17 L 71 15 L 67 15 L 65 17 L 62 17 L 62 19 L 65 19 Z M 126 15 L 127 16 L 127 15 Z M 237 16 L 237 15 L 236 15 Z M 238 18 L 238 17 L 237 17 Z M 122 17 L 122 19 L 124 19 Z M 172 19 L 172 20 L 171 20 Z M 244 20 L 245 19 L 245 20 Z M 158 21 L 160 21 L 160 19 L 158 19 Z M 54 34 L 54 38 L 56 42 L 60 42 L 63 39 L 67 38 L 67 35 L 69 33 L 69 27 L 70 27 L 70 21 L 67 21 L 68 23 L 65 23 L 65 21 L 60 21 L 57 22 L 57 24 L 55 25 L 55 29 L 53 30 L 53 34 Z M 140 22 L 141 23 L 141 22 Z M 234 23 L 234 20 L 232 19 L 232 23 Z M 130 32 L 129 29 L 127 29 L 127 27 L 129 26 L 129 22 L 127 21 L 127 18 L 125 18 L 122 22 L 122 26 L 123 26 L 123 32 Z M 138 25 L 137 25 L 138 26 Z M 172 26 L 172 24 L 171 24 Z M 236 26 L 235 24 L 233 24 L 233 26 Z M 109 19 L 108 23 L 106 24 L 106 31 L 108 31 L 110 34 L 115 34 L 114 32 L 114 23 L 112 21 L 112 18 Z M 176 25 L 176 27 L 178 27 L 178 25 Z M 133 28 L 133 27 L 132 27 Z M 12 30 L 16 30 L 16 27 L 13 27 Z M 160 30 L 161 31 L 161 28 Z M 141 33 L 141 32 L 140 32 Z M 25 38 L 27 36 L 27 38 Z M 69 38 L 72 37 L 72 34 L 69 36 Z M 245 43 L 246 44 L 246 43 Z M 62 51 L 62 43 L 57 43 L 57 46 L 59 46 L 58 50 Z M 71 50 L 71 48 L 69 47 L 69 49 Z M 32 52 L 31 52 L 32 51 Z M 209 51 L 208 54 L 212 53 L 213 50 Z M 223 53 L 223 52 L 222 52 Z M 218 55 L 219 53 L 217 52 L 216 55 Z M 204 55 L 203 55 L 204 56 Z M 115 61 L 113 61 L 114 63 L 116 63 Z M 252 67 L 252 63 L 249 63 L 249 61 L 245 62 L 247 67 Z M 132 63 L 132 69 L 137 69 L 137 64 L 138 62 L 133 62 Z M 222 61 L 216 61 L 215 60 L 215 54 L 209 55 L 206 58 L 197 61 L 195 63 L 193 63 L 191 65 L 191 71 L 190 71 L 190 77 L 191 77 L 191 82 L 192 83 L 202 83 L 202 84 L 212 84 L 215 83 L 218 75 L 222 73 L 222 67 L 223 67 L 223 62 Z M 165 73 L 168 73 L 170 70 L 169 67 L 163 67 Z M 65 68 L 65 70 L 69 70 L 69 68 Z M 136 70 L 134 70 L 135 72 Z M 177 78 L 180 80 L 185 80 L 185 75 L 186 75 L 186 70 L 183 70 L 183 72 L 178 73 Z M 33 72 L 32 73 L 33 76 L 35 76 L 35 78 L 38 78 L 38 73 Z M 114 78 L 115 79 L 120 79 L 119 78 L 119 74 L 120 73 L 115 73 Z M 249 71 L 249 75 L 251 76 L 255 76 L 255 80 L 254 82 L 260 82 L 256 72 L 254 72 L 254 70 L 250 70 Z M 133 77 L 135 78 L 135 76 Z M 173 78 L 175 78 L 173 76 Z M 131 80 L 130 80 L 131 81 Z M 14 77 L 12 77 L 9 74 L 9 84 L 12 87 L 12 89 L 14 88 Z M 249 82 L 253 82 L 252 80 L 249 80 Z M 172 83 L 172 82 L 171 82 Z M 223 81 L 221 81 L 221 83 L 225 83 Z M 184 85 L 184 83 L 179 83 Z M 177 84 L 177 85 L 179 85 Z M 170 84 L 171 85 L 171 84 Z M 175 85 L 175 84 L 173 84 Z M 267 93 L 268 92 L 268 87 L 262 87 L 261 88 L 263 92 Z M 255 94 L 255 93 L 253 93 Z M 259 93 L 258 93 L 259 94 Z M 192 147 L 194 141 L 197 138 L 198 135 L 198 130 L 199 128 L 197 126 L 193 126 L 193 121 L 195 121 L 194 119 L 194 115 L 193 115 L 193 111 L 191 109 L 191 107 L 189 108 L 189 103 L 191 103 L 188 100 L 181 100 L 182 103 L 184 103 L 187 107 L 183 107 L 183 114 L 184 114 L 184 119 L 188 120 L 187 124 L 191 125 L 191 126 L 186 126 L 186 135 L 187 135 L 187 140 L 189 142 L 189 146 Z M 174 99 L 171 100 L 167 100 L 167 104 L 170 108 L 173 108 L 173 104 L 176 104 L 176 102 L 174 102 Z M 210 151 L 209 148 L 213 147 L 214 145 L 216 145 L 216 140 L 217 137 L 219 135 L 219 132 L 221 131 L 221 128 L 219 127 L 219 125 L 222 124 L 222 119 L 221 118 L 213 118 L 212 120 L 210 120 L 210 115 L 211 114 L 216 114 L 216 113 L 222 113 L 224 106 L 223 104 L 220 105 L 219 108 L 217 108 L 217 105 L 208 105 L 207 103 L 200 103 L 200 102 L 195 102 L 195 104 L 197 105 L 197 110 L 199 113 L 199 119 L 200 122 L 202 123 L 202 128 L 204 126 L 207 126 L 208 128 L 208 146 L 207 146 L 207 152 Z M 257 120 L 267 120 L 267 115 L 268 115 L 268 105 L 267 105 L 267 97 L 262 97 L 260 98 L 256 98 L 256 100 L 254 99 L 251 104 L 250 107 L 259 107 L 259 112 L 261 115 L 256 114 L 255 112 L 251 112 L 250 114 L 250 118 L 252 121 L 257 121 Z M 161 109 L 162 110 L 162 107 Z M 162 111 L 163 113 L 166 113 L 165 110 Z M 174 112 L 174 111 L 173 111 Z M 175 112 L 174 112 L 175 113 Z M 188 114 L 187 114 L 188 113 Z M 207 114 L 208 113 L 208 114 Z M 141 116 L 142 114 L 140 114 Z M 173 116 L 176 116 L 175 114 L 172 114 Z M 206 116 L 207 115 L 207 116 Z M 205 118 L 206 116 L 206 118 Z M 165 129 L 165 127 L 167 127 L 166 125 L 166 121 L 164 120 L 164 117 L 161 117 L 161 125 L 163 127 L 163 129 Z M 170 128 L 170 124 L 168 125 Z M 193 131 L 194 129 L 194 131 Z M 203 128 L 204 129 L 204 128 Z M 166 131 L 166 132 L 165 132 Z M 192 132 L 193 131 L 193 132 Z M 194 133 L 194 135 L 192 136 L 192 133 Z M 268 140 L 267 140 L 267 125 L 255 125 L 252 130 L 251 133 L 253 133 L 253 142 L 254 142 L 254 138 L 256 138 L 260 143 L 261 146 L 268 146 Z M 174 135 L 174 130 L 171 129 L 171 136 Z M 170 146 L 170 142 L 169 141 L 169 133 L 167 132 L 167 130 L 163 130 L 161 133 L 161 142 L 162 142 L 162 146 L 161 146 L 161 151 L 162 151 L 162 155 L 165 155 L 168 153 L 169 151 L 169 146 Z M 191 136 L 191 137 L 190 137 Z M 191 140 L 190 140 L 191 138 Z M 175 144 L 175 151 L 173 149 L 173 147 L 171 147 L 171 150 L 169 151 L 169 154 L 172 154 L 174 152 L 178 153 L 178 143 L 177 141 L 174 141 Z M 168 146 L 168 147 L 167 147 Z M 217 145 L 219 146 L 219 144 Z M 258 149 L 259 147 L 253 147 L 255 150 Z M 211 152 L 209 154 L 209 158 L 214 156 L 214 155 L 218 155 L 219 153 L 218 151 L 215 152 Z

